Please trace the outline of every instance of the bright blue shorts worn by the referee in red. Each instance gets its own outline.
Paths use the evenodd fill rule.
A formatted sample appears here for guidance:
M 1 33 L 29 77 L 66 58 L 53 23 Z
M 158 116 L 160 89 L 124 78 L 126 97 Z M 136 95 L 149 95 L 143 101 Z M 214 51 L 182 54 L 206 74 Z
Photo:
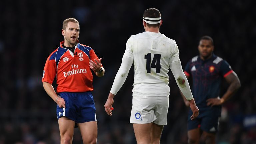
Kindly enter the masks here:
M 57 105 L 57 118 L 64 116 L 76 123 L 96 120 L 96 108 L 91 92 L 60 92 L 58 95 L 65 100 L 66 108 Z

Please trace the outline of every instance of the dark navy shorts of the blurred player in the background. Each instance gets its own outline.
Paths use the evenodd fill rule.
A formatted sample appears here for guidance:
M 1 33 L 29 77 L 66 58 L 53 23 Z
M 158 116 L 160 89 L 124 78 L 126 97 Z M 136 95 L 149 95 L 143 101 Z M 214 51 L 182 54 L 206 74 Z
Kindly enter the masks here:
M 199 115 L 194 120 L 190 117 L 193 114 L 191 110 L 188 113 L 188 130 L 200 128 L 207 133 L 217 133 L 219 127 L 219 109 L 199 109 Z

